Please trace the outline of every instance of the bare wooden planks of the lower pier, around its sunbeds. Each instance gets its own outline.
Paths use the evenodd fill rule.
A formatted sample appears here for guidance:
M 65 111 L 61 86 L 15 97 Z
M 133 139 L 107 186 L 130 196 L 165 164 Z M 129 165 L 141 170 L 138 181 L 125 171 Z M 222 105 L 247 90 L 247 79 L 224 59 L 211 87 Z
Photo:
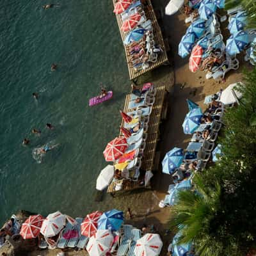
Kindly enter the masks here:
M 157 142 L 159 141 L 159 125 L 161 124 L 164 101 L 166 96 L 165 86 L 156 87 L 156 100 L 152 106 L 152 113 L 149 117 L 147 140 L 145 150 L 143 151 L 143 157 L 141 159 L 141 169 L 147 171 L 154 170 L 154 159 L 156 155 Z M 131 98 L 131 93 L 125 97 L 124 112 L 128 113 L 132 109 L 128 109 L 129 101 Z M 122 120 L 122 126 L 124 125 L 124 120 Z M 120 134 L 122 135 L 122 134 Z M 108 186 L 108 193 L 115 193 L 115 182 L 111 182 Z M 124 182 L 121 191 L 129 191 L 138 188 L 145 188 L 141 186 L 139 182 Z

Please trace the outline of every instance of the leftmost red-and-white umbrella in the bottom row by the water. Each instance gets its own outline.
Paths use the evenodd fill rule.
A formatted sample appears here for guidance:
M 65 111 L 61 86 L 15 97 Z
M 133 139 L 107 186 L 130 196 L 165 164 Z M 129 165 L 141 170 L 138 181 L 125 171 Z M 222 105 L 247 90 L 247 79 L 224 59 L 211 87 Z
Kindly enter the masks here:
M 29 216 L 29 218 L 21 226 L 20 236 L 22 236 L 23 239 L 37 237 L 40 234 L 43 221 L 44 217 L 40 214 Z

